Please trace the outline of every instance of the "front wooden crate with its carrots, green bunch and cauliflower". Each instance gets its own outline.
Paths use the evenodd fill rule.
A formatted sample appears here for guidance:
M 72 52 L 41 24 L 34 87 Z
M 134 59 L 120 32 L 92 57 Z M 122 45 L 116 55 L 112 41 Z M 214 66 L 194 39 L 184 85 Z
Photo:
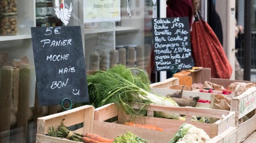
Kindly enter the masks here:
M 180 129 L 179 125 L 175 125 L 171 128 L 175 128 L 173 130 L 177 133 L 170 133 L 96 121 L 93 119 L 94 113 L 94 107 L 85 105 L 38 118 L 36 143 L 172 143 L 174 139 L 185 140 L 182 138 L 183 136 L 192 136 L 194 133 L 199 133 L 198 141 L 206 139 L 207 142 L 219 143 L 221 139 L 227 139 L 222 134 L 210 139 L 202 129 L 192 128 L 192 125 L 190 130 Z M 189 128 L 190 125 L 185 127 Z M 231 129 L 233 131 L 233 128 L 230 127 L 223 133 L 231 133 L 229 137 L 235 137 L 236 132 L 231 132 Z

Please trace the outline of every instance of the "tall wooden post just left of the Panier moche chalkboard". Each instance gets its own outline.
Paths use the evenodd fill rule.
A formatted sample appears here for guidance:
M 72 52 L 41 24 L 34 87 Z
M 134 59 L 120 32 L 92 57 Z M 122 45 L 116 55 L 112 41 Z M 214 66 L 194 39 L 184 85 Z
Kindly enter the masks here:
M 29 112 L 29 86 L 30 86 L 30 66 L 29 64 L 22 64 L 20 66 L 19 78 L 19 102 L 17 112 L 17 128 L 21 127 L 23 130 L 17 137 L 17 143 L 26 143 L 27 135 L 27 119 Z

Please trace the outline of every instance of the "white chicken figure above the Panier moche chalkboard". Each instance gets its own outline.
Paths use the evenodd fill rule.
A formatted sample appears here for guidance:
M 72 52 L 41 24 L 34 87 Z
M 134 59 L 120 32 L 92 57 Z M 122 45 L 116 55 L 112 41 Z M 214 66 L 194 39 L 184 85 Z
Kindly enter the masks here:
M 73 10 L 72 3 L 70 3 L 69 9 L 65 7 L 65 0 L 61 0 L 61 4 L 59 4 L 59 0 L 55 0 L 55 14 L 57 17 L 63 22 L 65 26 L 68 25 L 71 12 Z

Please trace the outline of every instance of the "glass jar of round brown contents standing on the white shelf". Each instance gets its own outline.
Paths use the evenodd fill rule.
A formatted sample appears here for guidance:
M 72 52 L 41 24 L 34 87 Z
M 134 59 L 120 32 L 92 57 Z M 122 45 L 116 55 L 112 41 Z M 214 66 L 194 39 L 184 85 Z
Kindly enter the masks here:
M 17 13 L 1 14 L 1 35 L 17 35 Z

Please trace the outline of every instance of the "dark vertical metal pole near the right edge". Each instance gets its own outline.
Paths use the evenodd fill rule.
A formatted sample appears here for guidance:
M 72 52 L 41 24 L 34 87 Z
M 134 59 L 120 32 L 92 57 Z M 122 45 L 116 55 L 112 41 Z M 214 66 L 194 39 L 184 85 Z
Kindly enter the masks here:
M 251 11 L 252 0 L 244 0 L 244 80 L 251 80 L 251 54 L 252 54 L 252 34 L 251 34 Z

